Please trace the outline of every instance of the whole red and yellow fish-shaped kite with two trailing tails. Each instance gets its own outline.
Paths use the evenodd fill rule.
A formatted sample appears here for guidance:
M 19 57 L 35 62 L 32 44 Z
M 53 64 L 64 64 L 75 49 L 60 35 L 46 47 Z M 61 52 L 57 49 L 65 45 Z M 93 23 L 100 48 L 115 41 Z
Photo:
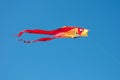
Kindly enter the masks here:
M 56 38 L 78 38 L 78 37 L 86 37 L 88 36 L 88 29 L 80 28 L 77 26 L 63 26 L 61 28 L 55 30 L 41 30 L 41 29 L 34 29 L 34 30 L 23 30 L 21 31 L 17 37 L 23 35 L 23 33 L 30 33 L 30 34 L 43 34 L 43 35 L 50 35 L 51 37 L 39 38 L 33 41 L 26 41 L 24 39 L 19 39 L 19 41 L 23 41 L 24 43 L 33 43 L 33 42 L 44 42 L 53 40 Z

